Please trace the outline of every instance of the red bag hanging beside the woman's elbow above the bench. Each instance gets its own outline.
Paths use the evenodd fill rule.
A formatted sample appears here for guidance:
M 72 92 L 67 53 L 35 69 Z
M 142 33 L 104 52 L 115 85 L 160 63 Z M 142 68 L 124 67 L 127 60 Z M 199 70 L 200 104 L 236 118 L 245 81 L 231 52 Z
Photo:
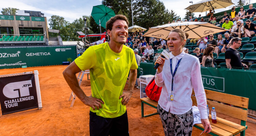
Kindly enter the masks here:
M 155 77 L 150 81 L 150 83 L 148 83 L 148 85 L 145 88 L 147 97 L 157 102 L 159 100 L 161 91 L 162 91 L 162 87 L 158 87 L 156 85 Z

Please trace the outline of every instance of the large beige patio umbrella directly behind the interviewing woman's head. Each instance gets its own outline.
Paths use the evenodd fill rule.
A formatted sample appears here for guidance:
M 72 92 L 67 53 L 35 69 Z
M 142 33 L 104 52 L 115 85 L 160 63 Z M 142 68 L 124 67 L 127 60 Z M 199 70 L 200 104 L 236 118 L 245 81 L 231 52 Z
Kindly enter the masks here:
M 208 22 L 173 22 L 150 28 L 143 36 L 167 39 L 173 29 L 182 29 L 188 33 L 188 38 L 200 38 L 210 34 L 228 31 Z

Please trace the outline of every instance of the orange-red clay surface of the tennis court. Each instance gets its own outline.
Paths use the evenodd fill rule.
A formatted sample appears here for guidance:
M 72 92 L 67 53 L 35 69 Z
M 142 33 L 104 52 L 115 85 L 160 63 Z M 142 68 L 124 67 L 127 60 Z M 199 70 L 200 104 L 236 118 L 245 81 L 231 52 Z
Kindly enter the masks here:
M 74 107 L 68 101 L 71 90 L 62 76 L 67 66 L 44 66 L 0 70 L 0 75 L 39 71 L 39 82 L 42 97 L 42 109 L 0 116 L 0 136 L 89 136 L 89 107 L 79 99 Z M 125 89 L 128 87 L 126 84 Z M 84 77 L 81 88 L 88 96 L 91 94 L 90 80 Z M 161 120 L 158 115 L 141 117 L 140 91 L 134 88 L 133 97 L 127 105 L 130 136 L 164 136 Z M 156 109 L 144 104 L 144 113 L 156 112 Z M 218 117 L 240 124 L 240 120 L 217 113 Z M 256 124 L 246 122 L 246 136 L 256 135 Z M 202 131 L 193 127 L 193 136 Z M 207 134 L 202 134 L 207 136 Z M 238 134 L 240 135 L 240 134 Z M 122 134 L 120 134 L 122 136 Z

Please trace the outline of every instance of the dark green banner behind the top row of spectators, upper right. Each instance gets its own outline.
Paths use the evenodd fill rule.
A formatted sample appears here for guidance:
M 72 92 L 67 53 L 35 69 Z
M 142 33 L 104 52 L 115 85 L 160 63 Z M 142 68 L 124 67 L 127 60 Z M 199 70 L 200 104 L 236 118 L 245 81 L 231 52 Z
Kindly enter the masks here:
M 249 9 L 249 5 L 245 5 L 245 6 L 243 6 L 243 7 L 244 7 L 245 12 Z M 253 8 L 256 9 L 256 3 L 253 3 Z M 235 10 L 235 11 L 238 13 L 238 12 L 240 11 L 240 7 L 236 7 L 236 10 Z M 221 21 L 221 19 L 222 19 L 223 16 L 224 16 L 224 12 L 227 12 L 227 14 L 230 16 L 231 10 L 226 10 L 226 11 L 223 11 L 223 12 L 218 12 L 218 13 L 213 14 L 213 16 L 216 17 L 216 21 L 217 21 L 217 22 Z M 245 13 L 245 15 L 246 15 L 246 13 Z M 210 22 L 210 21 L 209 21 L 210 16 L 203 16 L 203 17 L 201 17 L 201 18 L 203 18 L 203 20 L 204 20 L 205 22 Z M 194 20 L 195 20 L 195 19 L 201 20 L 201 18 L 194 18 Z

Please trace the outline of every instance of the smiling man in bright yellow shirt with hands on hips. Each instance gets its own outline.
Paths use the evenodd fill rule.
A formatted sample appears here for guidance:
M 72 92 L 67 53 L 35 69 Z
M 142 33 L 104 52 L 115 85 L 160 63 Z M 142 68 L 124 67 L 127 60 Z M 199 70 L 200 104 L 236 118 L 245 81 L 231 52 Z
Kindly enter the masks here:
M 128 37 L 128 19 L 116 15 L 106 23 L 109 43 L 89 47 L 64 71 L 63 76 L 75 95 L 90 106 L 90 136 L 129 136 L 126 104 L 136 81 L 136 58 L 131 48 L 124 46 Z M 91 96 L 80 88 L 75 74 L 90 70 Z M 128 90 L 123 91 L 128 73 Z

